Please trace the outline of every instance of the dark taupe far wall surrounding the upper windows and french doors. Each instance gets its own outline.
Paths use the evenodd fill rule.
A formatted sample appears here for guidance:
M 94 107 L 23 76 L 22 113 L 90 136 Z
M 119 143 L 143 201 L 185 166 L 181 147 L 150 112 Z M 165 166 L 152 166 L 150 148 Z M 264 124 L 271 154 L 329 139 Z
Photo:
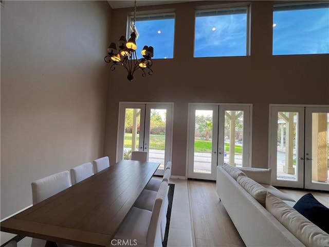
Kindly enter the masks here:
M 328 55 L 272 56 L 271 1 L 251 2 L 251 56 L 193 58 L 195 8 L 215 3 L 137 8 L 175 9 L 174 59 L 154 60 L 154 75 L 142 78 L 136 72 L 132 82 L 126 80 L 123 68 L 111 72 L 104 152 L 112 161 L 119 101 L 174 102 L 172 174 L 181 176 L 185 176 L 186 167 L 189 102 L 252 103 L 253 167 L 268 166 L 270 103 L 329 104 Z M 125 34 L 127 11 L 132 9 L 112 11 L 114 41 Z

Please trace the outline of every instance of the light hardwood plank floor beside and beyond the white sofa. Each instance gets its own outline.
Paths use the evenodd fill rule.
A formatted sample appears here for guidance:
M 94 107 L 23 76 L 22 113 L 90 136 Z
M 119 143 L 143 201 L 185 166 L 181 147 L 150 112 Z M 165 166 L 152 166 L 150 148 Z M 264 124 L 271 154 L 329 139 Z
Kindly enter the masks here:
M 216 183 L 188 180 L 188 186 L 195 246 L 246 246 L 218 198 Z M 329 193 L 295 189 L 280 190 L 296 201 L 306 193 L 311 192 L 319 202 L 329 207 Z

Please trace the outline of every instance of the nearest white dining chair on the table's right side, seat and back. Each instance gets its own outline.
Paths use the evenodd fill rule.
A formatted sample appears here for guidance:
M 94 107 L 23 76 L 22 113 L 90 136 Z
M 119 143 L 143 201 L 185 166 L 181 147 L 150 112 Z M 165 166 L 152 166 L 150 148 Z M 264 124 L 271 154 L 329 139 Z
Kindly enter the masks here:
M 138 246 L 162 247 L 161 215 L 166 198 L 168 183 L 163 182 L 157 192 L 152 211 L 133 207 L 121 224 L 116 240 L 134 240 Z

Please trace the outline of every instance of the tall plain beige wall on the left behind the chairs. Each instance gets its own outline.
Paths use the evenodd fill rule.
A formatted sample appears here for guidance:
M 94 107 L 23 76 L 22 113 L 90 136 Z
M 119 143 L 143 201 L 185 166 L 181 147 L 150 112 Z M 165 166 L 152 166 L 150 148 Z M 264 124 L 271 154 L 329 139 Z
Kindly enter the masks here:
M 32 204 L 31 182 L 103 155 L 106 1 L 1 7 L 1 218 Z

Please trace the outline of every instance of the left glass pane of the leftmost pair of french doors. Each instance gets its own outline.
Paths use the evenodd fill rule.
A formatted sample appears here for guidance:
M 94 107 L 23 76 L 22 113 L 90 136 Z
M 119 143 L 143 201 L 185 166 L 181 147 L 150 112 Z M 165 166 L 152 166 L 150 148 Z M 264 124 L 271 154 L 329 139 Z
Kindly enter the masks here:
M 140 113 L 141 109 L 125 109 L 123 160 L 131 160 L 132 151 L 139 150 Z

